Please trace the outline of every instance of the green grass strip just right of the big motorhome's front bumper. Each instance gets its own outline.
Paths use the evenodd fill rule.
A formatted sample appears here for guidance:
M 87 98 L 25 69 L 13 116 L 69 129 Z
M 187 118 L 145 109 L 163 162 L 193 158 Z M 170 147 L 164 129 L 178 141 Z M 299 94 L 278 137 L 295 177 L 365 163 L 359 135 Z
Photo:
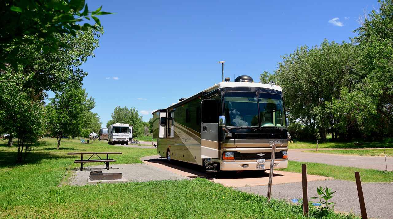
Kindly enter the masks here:
M 288 161 L 288 167 L 279 169 L 280 171 L 288 171 L 301 173 L 301 164 L 307 164 L 307 174 L 318 175 L 324 177 L 333 177 L 335 179 L 355 181 L 354 172 L 360 173 L 362 182 L 392 182 L 393 171 L 380 171 L 376 169 L 362 169 L 356 167 L 342 167 L 328 164 Z

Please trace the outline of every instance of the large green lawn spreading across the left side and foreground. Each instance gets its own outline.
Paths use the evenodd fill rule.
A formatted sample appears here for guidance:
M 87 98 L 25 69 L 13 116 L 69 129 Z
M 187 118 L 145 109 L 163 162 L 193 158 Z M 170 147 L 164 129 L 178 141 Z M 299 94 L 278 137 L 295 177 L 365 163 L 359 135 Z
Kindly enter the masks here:
M 226 188 L 206 179 L 68 186 L 62 179 L 73 160 L 68 152 L 122 152 L 117 164 L 140 163 L 155 149 L 79 140 L 40 142 L 26 162 L 15 164 L 16 147 L 0 141 L 0 218 L 304 218 L 301 206 Z M 68 171 L 70 172 L 70 171 Z M 316 215 L 315 210 L 311 210 Z M 327 218 L 353 218 L 333 213 Z

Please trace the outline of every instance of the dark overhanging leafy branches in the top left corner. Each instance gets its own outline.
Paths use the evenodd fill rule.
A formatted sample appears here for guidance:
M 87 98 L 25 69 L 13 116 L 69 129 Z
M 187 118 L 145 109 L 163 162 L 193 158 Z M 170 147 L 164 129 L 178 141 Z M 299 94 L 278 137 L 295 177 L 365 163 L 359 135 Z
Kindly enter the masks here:
M 36 45 L 37 50 L 47 53 L 59 48 L 72 49 L 67 42 L 59 40 L 54 33 L 76 36 L 76 30 L 97 29 L 88 23 L 79 25 L 90 17 L 101 26 L 97 15 L 110 14 L 89 11 L 84 0 L 4 0 L 0 3 L 0 68 L 6 70 L 4 63 L 17 65 L 24 63 L 19 57 L 23 45 Z

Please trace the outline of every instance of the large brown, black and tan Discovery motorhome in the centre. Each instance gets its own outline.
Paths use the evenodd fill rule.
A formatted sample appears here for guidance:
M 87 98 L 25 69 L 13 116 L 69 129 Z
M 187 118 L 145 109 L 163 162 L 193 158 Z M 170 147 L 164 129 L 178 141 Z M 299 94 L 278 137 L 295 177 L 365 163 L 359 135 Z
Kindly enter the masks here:
M 242 75 L 153 114 L 157 153 L 207 171 L 274 169 L 288 165 L 287 120 L 280 86 Z M 217 168 L 217 169 L 216 169 Z

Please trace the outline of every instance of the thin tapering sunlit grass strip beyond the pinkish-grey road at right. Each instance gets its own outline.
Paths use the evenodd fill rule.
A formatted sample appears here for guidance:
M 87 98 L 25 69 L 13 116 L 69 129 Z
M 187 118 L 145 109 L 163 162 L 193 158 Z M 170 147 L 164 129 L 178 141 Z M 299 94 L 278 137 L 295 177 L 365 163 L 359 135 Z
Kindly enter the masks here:
M 364 149 L 364 150 L 321 150 L 321 151 L 305 151 L 311 153 L 326 153 L 338 155 L 357 155 L 357 156 L 385 156 L 384 149 Z M 386 156 L 393 156 L 393 149 L 385 149 Z

